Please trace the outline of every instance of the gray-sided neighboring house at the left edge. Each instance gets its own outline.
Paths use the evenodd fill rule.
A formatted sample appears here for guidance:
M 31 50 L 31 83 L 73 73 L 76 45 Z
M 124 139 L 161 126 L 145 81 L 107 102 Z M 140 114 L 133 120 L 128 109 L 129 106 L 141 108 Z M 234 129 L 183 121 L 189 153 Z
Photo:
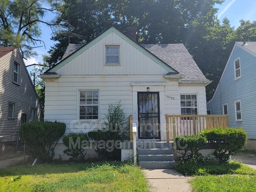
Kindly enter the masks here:
M 40 118 L 40 102 L 17 47 L 0 47 L 0 136 Z

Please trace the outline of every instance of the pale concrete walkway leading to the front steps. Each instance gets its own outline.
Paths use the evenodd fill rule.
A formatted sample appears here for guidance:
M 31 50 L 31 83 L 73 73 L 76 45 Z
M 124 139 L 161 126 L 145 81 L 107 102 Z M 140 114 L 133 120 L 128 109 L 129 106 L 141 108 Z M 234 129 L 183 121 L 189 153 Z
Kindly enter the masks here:
M 149 169 L 143 170 L 149 180 L 152 192 L 191 192 L 191 187 L 187 181 L 189 177 L 184 177 L 171 169 Z

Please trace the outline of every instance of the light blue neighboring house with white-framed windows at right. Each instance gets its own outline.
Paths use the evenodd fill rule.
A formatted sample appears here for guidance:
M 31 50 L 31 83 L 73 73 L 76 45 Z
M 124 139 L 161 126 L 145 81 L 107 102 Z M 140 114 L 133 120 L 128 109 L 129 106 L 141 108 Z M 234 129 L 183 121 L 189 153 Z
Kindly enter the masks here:
M 256 148 L 256 42 L 236 42 L 210 101 L 208 113 L 228 114 L 230 127 L 242 127 Z

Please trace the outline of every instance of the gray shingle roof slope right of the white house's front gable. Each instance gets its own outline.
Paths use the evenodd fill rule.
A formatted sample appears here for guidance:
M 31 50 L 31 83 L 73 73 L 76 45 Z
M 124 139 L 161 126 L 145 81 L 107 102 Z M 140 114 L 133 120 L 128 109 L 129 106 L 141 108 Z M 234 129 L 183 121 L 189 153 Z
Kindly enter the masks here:
M 141 46 L 185 75 L 183 81 L 208 81 L 184 44 L 141 44 Z

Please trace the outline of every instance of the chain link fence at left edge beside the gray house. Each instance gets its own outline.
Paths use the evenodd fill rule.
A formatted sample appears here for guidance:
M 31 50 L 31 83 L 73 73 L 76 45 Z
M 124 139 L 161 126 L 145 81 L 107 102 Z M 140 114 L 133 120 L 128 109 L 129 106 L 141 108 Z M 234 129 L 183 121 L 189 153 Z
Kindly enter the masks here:
M 25 142 L 19 134 L 0 136 L 0 168 L 17 164 L 28 159 Z

